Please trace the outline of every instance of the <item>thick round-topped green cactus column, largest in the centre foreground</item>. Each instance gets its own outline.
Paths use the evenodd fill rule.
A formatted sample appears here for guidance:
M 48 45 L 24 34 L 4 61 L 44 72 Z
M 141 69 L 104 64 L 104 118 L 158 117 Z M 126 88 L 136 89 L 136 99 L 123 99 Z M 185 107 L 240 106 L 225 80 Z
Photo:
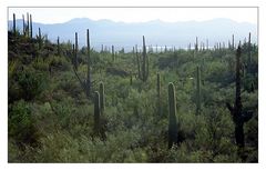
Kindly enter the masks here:
M 168 148 L 177 143 L 177 122 L 176 122 L 176 103 L 175 88 L 172 82 L 168 83 Z

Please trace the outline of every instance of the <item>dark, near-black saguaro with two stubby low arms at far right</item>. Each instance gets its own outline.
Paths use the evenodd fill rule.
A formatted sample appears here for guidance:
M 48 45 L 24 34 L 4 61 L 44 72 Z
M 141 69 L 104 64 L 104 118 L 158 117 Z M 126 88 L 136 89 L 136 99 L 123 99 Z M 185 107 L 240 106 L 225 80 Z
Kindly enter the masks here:
M 228 102 L 226 103 L 226 107 L 231 111 L 231 116 L 233 118 L 234 124 L 235 124 L 235 140 L 236 144 L 239 148 L 245 147 L 245 137 L 244 137 L 244 123 L 252 119 L 253 113 L 252 112 L 243 112 L 242 111 L 242 99 L 241 99 L 241 53 L 242 48 L 241 44 L 237 48 L 236 51 L 236 78 L 235 78 L 235 106 L 232 107 Z

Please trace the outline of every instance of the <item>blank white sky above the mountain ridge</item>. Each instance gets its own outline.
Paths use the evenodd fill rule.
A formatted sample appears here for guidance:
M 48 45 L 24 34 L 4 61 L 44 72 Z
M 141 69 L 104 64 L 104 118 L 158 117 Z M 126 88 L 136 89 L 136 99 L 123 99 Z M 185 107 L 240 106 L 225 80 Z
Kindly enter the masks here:
M 32 14 L 34 22 L 41 23 L 60 23 L 73 18 L 123 22 L 157 19 L 166 22 L 204 21 L 227 18 L 257 24 L 257 8 L 9 8 L 9 20 L 12 20 L 12 13 L 17 14 L 17 19 L 21 19 L 22 13 L 27 12 Z

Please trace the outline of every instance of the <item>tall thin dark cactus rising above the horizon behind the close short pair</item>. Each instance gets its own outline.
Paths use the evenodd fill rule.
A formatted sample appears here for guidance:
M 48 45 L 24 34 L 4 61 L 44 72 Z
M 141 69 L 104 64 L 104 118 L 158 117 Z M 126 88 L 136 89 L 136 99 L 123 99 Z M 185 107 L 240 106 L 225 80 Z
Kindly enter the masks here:
M 91 96 L 91 43 L 90 43 L 90 30 L 86 29 L 86 50 L 88 50 L 88 58 L 86 58 L 86 97 Z

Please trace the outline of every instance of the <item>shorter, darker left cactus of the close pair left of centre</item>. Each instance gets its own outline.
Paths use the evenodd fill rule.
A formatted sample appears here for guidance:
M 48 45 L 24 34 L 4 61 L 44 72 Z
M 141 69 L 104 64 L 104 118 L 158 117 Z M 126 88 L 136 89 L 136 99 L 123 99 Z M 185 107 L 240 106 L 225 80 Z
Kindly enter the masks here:
M 100 93 L 98 91 L 94 92 L 94 132 L 100 132 L 100 116 L 101 116 L 101 108 L 100 108 Z

